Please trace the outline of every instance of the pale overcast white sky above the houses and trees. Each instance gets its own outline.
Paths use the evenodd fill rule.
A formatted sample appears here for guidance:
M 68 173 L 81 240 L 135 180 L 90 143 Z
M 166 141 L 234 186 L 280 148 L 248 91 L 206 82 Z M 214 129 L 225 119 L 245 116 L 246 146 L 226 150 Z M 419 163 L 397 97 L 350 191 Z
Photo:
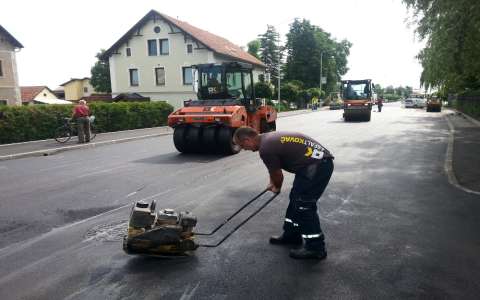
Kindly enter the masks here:
M 401 0 L 3 0 L 0 25 L 24 48 L 17 53 L 21 86 L 51 89 L 89 77 L 95 55 L 108 49 L 151 9 L 246 46 L 276 27 L 305 18 L 338 41 L 353 43 L 343 79 L 371 78 L 382 86 L 419 87 L 423 47 Z

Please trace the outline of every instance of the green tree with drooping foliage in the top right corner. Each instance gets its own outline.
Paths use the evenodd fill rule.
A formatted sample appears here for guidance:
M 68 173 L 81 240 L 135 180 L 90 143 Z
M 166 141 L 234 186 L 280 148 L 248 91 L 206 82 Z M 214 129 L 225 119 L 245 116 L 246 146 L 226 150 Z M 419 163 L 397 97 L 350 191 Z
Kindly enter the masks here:
M 403 0 L 426 46 L 421 84 L 445 93 L 480 89 L 480 1 Z

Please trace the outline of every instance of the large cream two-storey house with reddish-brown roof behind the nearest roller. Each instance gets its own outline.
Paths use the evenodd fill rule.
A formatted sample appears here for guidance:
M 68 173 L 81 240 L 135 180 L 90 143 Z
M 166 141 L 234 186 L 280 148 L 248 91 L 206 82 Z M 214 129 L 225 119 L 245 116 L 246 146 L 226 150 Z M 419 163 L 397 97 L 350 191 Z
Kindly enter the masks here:
M 265 72 L 265 65 L 239 46 L 155 10 L 125 33 L 102 59 L 109 60 L 112 97 L 138 93 L 175 108 L 184 100 L 196 99 L 192 65 L 247 62 L 254 66 L 255 80 Z

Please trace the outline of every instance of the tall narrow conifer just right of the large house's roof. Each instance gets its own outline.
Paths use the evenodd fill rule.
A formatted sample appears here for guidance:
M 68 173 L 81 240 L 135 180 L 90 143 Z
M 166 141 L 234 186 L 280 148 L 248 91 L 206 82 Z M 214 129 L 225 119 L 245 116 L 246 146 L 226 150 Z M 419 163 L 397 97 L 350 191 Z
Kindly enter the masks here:
M 261 61 L 267 66 L 267 72 L 270 73 L 270 80 L 276 82 L 279 76 L 279 60 L 281 59 L 281 49 L 278 46 L 280 35 L 275 27 L 267 25 L 267 31 L 258 36 L 259 56 Z

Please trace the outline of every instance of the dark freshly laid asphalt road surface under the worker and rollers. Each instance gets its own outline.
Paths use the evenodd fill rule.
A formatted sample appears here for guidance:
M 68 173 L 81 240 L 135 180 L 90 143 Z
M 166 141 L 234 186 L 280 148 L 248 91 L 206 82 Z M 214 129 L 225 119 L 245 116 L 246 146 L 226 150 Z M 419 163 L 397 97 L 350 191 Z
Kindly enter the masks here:
M 341 113 L 278 123 L 336 157 L 319 205 L 325 261 L 268 244 L 292 175 L 218 248 L 176 260 L 124 254 L 132 201 L 190 210 L 208 231 L 268 182 L 256 153 L 179 155 L 161 136 L 0 162 L 0 299 L 478 299 L 480 199 L 448 183 L 443 115 L 396 104 L 368 123 Z M 221 239 L 268 196 L 201 241 Z

